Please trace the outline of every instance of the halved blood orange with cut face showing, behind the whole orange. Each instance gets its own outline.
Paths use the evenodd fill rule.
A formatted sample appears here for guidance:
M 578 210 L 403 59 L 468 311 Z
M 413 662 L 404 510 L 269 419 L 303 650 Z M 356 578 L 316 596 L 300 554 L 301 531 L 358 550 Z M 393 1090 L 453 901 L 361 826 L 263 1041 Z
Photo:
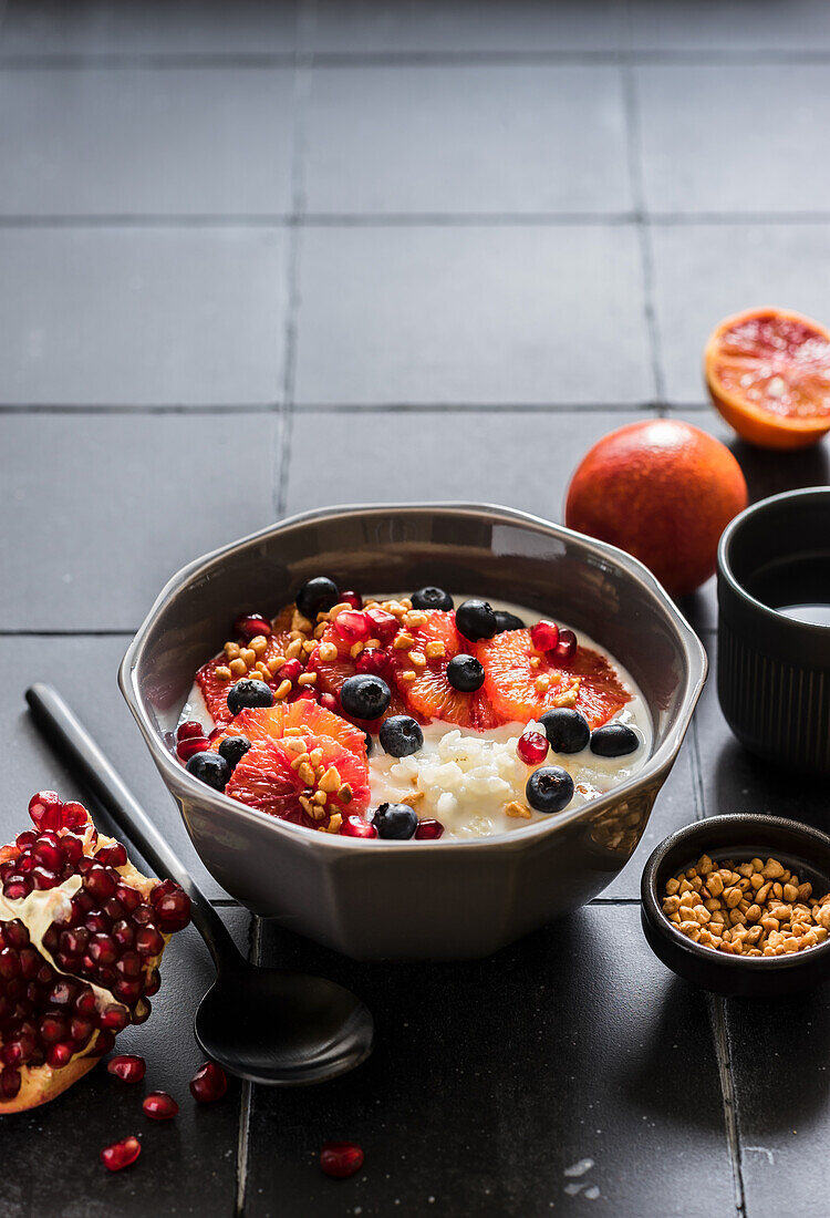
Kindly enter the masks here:
M 803 448 L 830 431 L 830 333 L 801 313 L 755 308 L 728 317 L 703 352 L 714 406 L 762 448 Z

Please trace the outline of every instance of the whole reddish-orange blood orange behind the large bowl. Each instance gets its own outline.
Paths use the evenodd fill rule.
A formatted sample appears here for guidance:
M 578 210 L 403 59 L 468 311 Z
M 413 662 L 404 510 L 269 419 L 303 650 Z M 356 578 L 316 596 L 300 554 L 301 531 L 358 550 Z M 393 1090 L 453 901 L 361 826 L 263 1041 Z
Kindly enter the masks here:
M 628 551 L 683 596 L 713 574 L 720 533 L 746 504 L 741 468 L 719 440 L 679 419 L 647 419 L 583 458 L 565 523 Z

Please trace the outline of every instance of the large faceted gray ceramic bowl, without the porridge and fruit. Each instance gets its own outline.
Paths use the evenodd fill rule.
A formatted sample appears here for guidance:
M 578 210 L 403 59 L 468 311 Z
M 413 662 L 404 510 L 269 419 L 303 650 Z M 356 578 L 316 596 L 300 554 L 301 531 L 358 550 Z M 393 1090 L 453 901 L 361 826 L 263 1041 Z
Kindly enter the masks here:
M 310 576 L 396 592 L 425 583 L 538 609 L 632 672 L 654 749 L 587 806 L 471 842 L 360 842 L 245 808 L 183 769 L 172 733 L 194 672 L 241 610 L 276 611 Z M 383 504 L 292 516 L 197 559 L 162 591 L 122 692 L 200 857 L 242 904 L 360 960 L 483 956 L 600 893 L 630 857 L 706 680 L 706 654 L 635 559 L 560 525 L 480 504 Z

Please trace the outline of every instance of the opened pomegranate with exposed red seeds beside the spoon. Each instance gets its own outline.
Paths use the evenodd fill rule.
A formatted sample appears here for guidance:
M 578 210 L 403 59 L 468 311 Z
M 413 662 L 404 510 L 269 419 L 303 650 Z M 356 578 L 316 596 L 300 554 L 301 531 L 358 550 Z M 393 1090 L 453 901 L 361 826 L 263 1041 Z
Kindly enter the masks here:
M 29 803 L 35 828 L 0 847 L 0 1113 L 66 1091 L 144 1023 L 190 898 L 142 876 L 82 804 Z

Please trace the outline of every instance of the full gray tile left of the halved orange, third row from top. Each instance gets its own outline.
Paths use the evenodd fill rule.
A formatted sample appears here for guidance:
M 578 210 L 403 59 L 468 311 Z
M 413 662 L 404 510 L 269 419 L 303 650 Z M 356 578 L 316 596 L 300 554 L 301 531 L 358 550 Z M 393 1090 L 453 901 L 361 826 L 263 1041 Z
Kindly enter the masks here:
M 301 403 L 650 401 L 636 234 L 305 230 L 297 376 Z

